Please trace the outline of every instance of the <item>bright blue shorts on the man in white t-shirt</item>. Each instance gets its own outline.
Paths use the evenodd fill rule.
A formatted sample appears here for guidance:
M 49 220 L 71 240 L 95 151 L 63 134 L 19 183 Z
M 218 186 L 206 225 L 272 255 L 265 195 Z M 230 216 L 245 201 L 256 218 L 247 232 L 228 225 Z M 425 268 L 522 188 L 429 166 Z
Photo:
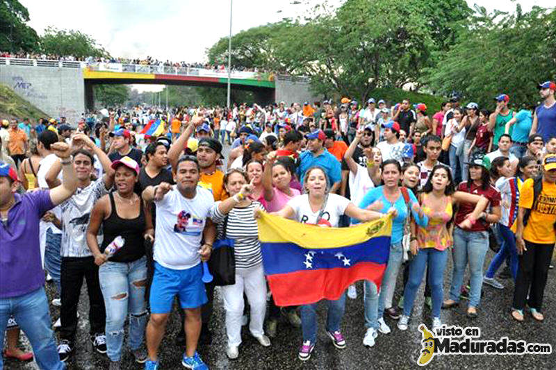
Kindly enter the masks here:
M 155 261 L 149 296 L 151 312 L 172 312 L 172 303 L 176 295 L 179 296 L 181 308 L 199 308 L 204 305 L 208 299 L 202 276 L 203 268 L 200 263 L 190 269 L 174 270 L 167 269 Z

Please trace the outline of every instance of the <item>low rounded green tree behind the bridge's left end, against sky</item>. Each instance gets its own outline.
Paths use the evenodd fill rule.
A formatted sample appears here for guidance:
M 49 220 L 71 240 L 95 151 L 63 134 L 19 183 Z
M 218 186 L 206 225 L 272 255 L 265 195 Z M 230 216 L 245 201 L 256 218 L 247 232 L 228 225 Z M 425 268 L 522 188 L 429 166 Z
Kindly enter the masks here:
M 108 56 L 106 50 L 90 35 L 75 30 L 58 30 L 54 27 L 47 28 L 40 37 L 40 49 L 47 54 L 77 58 Z

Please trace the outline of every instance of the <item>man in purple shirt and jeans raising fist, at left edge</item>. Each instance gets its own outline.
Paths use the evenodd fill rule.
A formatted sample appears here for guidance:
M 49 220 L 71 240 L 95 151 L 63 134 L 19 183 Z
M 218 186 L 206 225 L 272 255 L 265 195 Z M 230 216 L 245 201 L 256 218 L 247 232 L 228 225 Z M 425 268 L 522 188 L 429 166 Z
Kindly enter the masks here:
M 0 284 L 0 326 L 6 327 L 10 315 L 17 316 L 19 326 L 31 342 L 38 366 L 56 370 L 65 369 L 65 366 L 56 351 L 44 292 L 39 221 L 44 212 L 72 196 L 77 178 L 70 158 L 70 146 L 55 143 L 51 145 L 51 150 L 62 160 L 63 167 L 62 183 L 51 190 L 17 194 L 19 179 L 16 171 L 0 164 L 0 238 L 7 246 L 0 260 L 3 276 Z M 14 260 L 19 263 L 13 263 Z M 4 331 L 0 330 L 0 343 L 3 343 L 3 337 Z

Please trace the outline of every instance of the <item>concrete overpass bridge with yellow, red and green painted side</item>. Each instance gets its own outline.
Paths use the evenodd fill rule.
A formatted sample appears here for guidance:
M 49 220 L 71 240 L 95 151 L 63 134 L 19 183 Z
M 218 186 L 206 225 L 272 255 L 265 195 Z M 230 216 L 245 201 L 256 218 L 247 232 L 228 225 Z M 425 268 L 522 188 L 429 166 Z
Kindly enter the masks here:
M 233 89 L 251 90 L 257 103 L 313 101 L 306 78 L 275 76 L 260 72 L 231 72 Z M 131 65 L 0 58 L 0 83 L 33 103 L 51 117 L 74 122 L 85 109 L 95 106 L 93 86 L 99 84 L 161 84 L 227 87 L 222 69 Z

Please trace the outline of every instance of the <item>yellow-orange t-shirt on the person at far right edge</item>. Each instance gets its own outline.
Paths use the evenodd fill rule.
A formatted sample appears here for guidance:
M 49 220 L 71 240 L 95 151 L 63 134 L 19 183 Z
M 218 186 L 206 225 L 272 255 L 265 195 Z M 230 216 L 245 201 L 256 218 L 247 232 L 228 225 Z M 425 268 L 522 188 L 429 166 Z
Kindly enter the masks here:
M 532 208 L 534 203 L 533 179 L 528 178 L 521 187 L 519 206 Z M 523 239 L 538 244 L 556 243 L 554 223 L 556 222 L 556 184 L 543 181 L 543 190 L 537 199 L 537 206 L 523 230 Z

